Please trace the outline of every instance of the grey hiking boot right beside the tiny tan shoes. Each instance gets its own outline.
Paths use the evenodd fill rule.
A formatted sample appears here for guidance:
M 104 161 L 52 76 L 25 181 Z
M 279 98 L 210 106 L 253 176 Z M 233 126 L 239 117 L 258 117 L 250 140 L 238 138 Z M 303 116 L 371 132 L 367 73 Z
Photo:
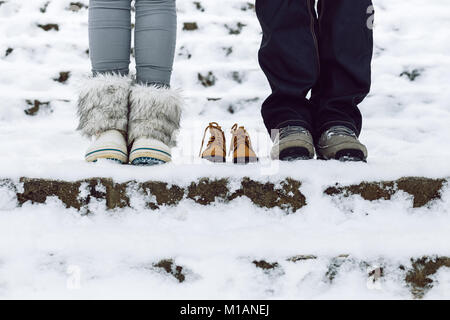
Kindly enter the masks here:
M 300 126 L 281 128 L 274 139 L 270 153 L 272 159 L 282 161 L 309 160 L 314 158 L 311 133 Z

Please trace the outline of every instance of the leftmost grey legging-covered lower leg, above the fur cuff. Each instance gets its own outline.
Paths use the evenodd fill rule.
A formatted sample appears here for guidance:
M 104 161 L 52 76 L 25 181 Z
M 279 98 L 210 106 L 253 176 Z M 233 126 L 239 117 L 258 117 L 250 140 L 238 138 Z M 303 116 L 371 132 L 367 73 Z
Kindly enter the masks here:
M 131 0 L 90 0 L 89 54 L 95 74 L 127 75 L 131 48 Z

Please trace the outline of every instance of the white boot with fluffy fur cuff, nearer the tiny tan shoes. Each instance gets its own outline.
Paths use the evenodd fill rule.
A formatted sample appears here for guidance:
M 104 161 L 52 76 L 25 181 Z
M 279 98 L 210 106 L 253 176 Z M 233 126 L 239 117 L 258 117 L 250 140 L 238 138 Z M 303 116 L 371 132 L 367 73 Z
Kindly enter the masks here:
M 128 144 L 130 163 L 156 165 L 170 162 L 180 128 L 182 97 L 177 90 L 136 84 L 130 94 Z

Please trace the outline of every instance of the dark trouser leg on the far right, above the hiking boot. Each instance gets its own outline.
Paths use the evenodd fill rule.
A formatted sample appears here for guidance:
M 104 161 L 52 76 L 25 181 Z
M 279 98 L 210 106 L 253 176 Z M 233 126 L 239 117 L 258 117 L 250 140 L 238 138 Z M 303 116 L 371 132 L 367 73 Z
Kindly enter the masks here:
M 315 135 L 333 126 L 361 132 L 358 109 L 371 84 L 373 35 L 370 0 L 319 1 L 321 73 L 313 89 Z

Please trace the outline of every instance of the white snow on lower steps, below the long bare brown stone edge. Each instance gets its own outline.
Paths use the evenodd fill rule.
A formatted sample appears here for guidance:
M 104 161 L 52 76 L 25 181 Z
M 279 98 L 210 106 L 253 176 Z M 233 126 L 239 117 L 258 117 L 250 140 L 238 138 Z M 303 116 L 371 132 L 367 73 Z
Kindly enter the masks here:
M 55 199 L 26 204 L 0 215 L 0 292 L 8 298 L 409 298 L 395 267 L 409 265 L 409 257 L 450 254 L 450 203 L 447 196 L 431 210 L 412 211 L 406 197 L 398 200 L 357 200 L 349 213 L 324 199 L 289 216 L 245 199 L 213 207 L 185 200 L 156 212 L 137 205 L 91 216 Z M 356 261 L 344 263 L 330 283 L 330 261 L 348 253 Z M 319 258 L 287 261 L 299 254 Z M 184 283 L 152 267 L 166 258 L 187 270 Z M 252 261 L 260 259 L 279 268 L 259 270 Z M 358 261 L 392 272 L 373 289 Z M 78 290 L 66 287 L 69 267 L 81 270 Z M 439 279 L 448 277 L 439 272 Z M 430 294 L 449 298 L 440 288 Z

